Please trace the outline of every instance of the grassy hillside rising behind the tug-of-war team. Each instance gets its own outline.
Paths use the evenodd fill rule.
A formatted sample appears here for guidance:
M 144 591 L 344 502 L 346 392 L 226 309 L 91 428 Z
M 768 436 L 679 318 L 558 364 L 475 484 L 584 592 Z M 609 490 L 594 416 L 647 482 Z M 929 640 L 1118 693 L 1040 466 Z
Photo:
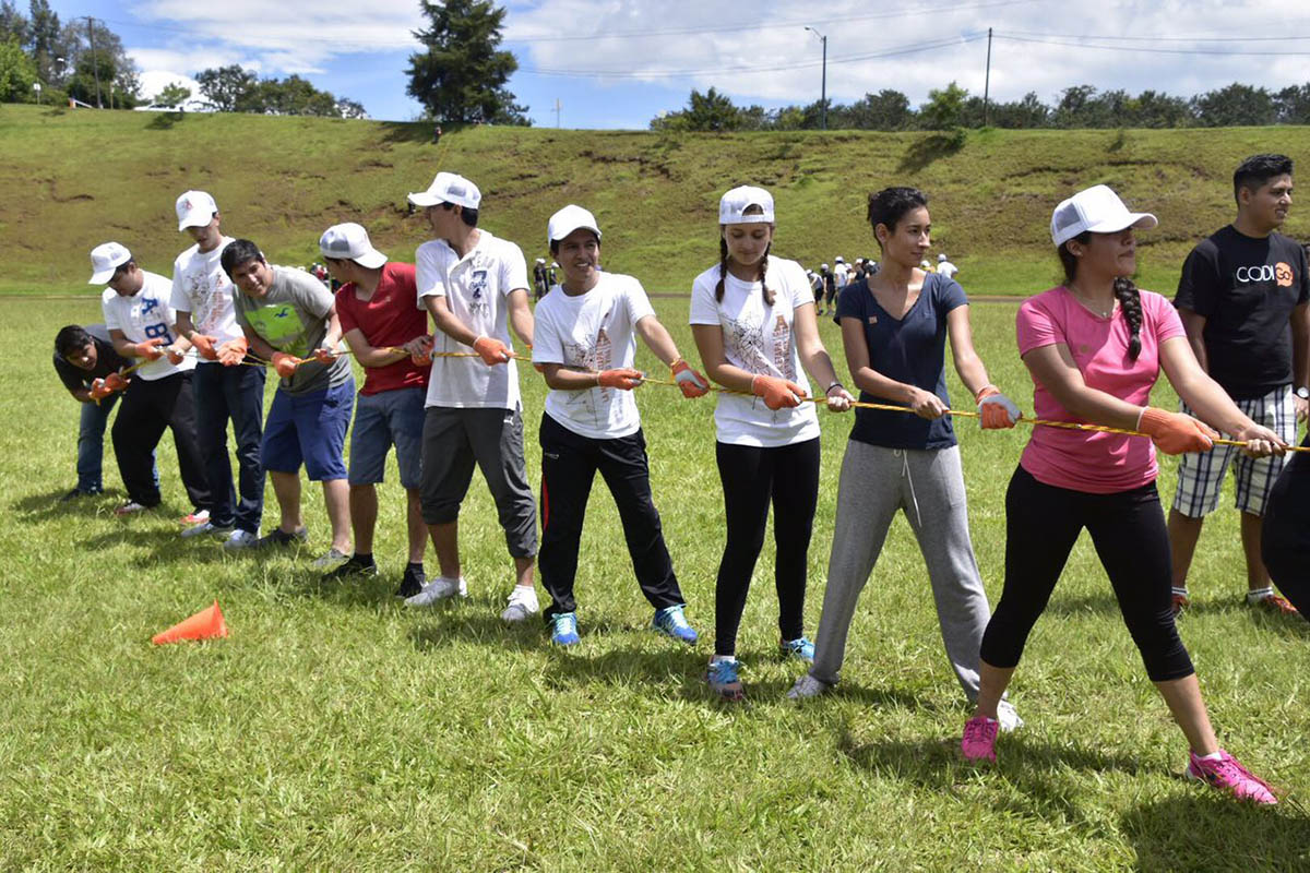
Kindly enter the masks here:
M 1230 178 L 1244 156 L 1310 152 L 1310 128 L 1184 131 L 982 131 L 963 147 L 930 134 L 768 132 L 668 135 L 476 127 L 440 147 L 423 124 L 254 115 L 160 115 L 0 109 L 0 293 L 85 291 L 86 253 L 118 240 L 168 272 L 187 240 L 173 200 L 204 188 L 224 229 L 284 263 L 317 258 L 318 234 L 364 224 L 406 259 L 426 238 L 405 194 L 439 170 L 476 181 L 482 226 L 545 255 L 546 217 L 566 203 L 593 212 L 605 266 L 652 291 L 683 291 L 714 263 L 719 194 L 739 183 L 778 202 L 777 253 L 817 266 L 875 255 L 869 191 L 916 185 L 931 200 L 937 250 L 975 293 L 1031 293 L 1057 268 L 1052 207 L 1106 182 L 1161 228 L 1142 234 L 1141 284 L 1171 291 L 1196 240 L 1231 219 Z M 1310 238 L 1310 213 L 1288 232 Z

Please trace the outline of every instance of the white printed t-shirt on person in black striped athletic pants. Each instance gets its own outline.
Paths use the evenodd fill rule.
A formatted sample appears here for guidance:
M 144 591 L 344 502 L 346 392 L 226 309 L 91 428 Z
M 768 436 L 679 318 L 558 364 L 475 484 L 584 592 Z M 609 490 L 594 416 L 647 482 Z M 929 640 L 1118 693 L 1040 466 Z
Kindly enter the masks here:
M 576 296 L 557 285 L 537 304 L 532 363 L 588 370 L 631 366 L 637 322 L 654 314 L 642 283 L 633 276 L 603 272 L 595 288 Z M 629 436 L 642 425 L 633 393 L 614 387 L 552 389 L 546 394 L 546 415 L 592 440 Z

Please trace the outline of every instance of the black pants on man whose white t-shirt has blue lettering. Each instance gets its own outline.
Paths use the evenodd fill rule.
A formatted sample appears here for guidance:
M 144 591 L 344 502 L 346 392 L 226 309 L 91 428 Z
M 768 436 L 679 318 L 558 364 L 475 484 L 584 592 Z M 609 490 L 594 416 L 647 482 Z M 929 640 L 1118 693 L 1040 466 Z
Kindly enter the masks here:
M 113 437 L 118 472 L 123 478 L 128 499 L 143 507 L 160 504 L 160 490 L 155 482 L 155 446 L 164 436 L 164 428 L 173 431 L 177 466 L 191 505 L 210 509 L 210 486 L 195 437 L 195 399 L 191 394 L 190 372 L 152 381 L 138 376 L 123 393 L 118 418 L 114 419 Z

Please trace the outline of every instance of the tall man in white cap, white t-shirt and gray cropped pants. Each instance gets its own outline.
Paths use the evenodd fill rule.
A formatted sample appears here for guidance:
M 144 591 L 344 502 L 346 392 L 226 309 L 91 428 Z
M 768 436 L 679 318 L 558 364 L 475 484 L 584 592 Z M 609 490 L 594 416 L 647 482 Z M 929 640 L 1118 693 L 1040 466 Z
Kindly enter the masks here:
M 438 173 L 410 194 L 432 238 L 414 254 L 418 297 L 436 325 L 423 414 L 423 521 L 441 575 L 405 602 L 427 606 L 466 597 L 460 568 L 460 504 L 482 470 L 514 558 L 515 588 L 500 614 L 521 622 L 538 610 L 532 586 L 537 507 L 523 458 L 519 372 L 510 326 L 532 346 L 528 264 L 508 240 L 478 229 L 482 192 L 455 173 Z M 476 355 L 470 355 L 476 352 Z

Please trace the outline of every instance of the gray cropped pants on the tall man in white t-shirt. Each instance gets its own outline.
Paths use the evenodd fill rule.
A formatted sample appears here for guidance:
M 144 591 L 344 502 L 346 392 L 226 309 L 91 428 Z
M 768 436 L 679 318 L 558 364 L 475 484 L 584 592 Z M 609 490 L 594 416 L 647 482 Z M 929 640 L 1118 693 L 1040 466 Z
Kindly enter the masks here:
M 423 521 L 444 525 L 460 517 L 460 504 L 482 470 L 506 544 L 515 558 L 537 554 L 537 504 L 523 461 L 519 410 L 430 406 L 423 415 Z

